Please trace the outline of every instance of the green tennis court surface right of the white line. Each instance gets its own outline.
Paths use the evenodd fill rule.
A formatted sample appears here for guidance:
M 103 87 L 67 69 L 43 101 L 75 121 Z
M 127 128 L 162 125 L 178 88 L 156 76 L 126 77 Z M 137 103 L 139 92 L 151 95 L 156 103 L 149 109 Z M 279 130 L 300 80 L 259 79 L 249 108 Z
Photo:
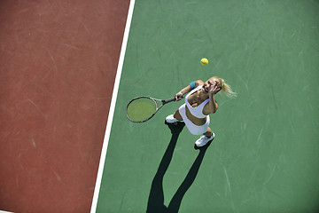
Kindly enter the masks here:
M 318 1 L 137 0 L 97 212 L 316 212 L 318 38 Z M 206 150 L 164 123 L 183 101 L 126 118 L 130 99 L 213 75 L 238 95 L 216 96 Z

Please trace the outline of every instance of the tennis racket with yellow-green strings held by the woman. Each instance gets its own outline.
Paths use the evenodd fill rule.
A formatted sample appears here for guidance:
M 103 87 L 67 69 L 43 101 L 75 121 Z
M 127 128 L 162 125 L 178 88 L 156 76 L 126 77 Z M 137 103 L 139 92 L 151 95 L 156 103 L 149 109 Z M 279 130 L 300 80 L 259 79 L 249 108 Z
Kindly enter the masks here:
M 183 96 L 181 97 L 183 99 Z M 141 96 L 136 97 L 128 102 L 127 117 L 131 122 L 147 122 L 150 120 L 159 109 L 173 99 L 153 99 L 151 97 Z

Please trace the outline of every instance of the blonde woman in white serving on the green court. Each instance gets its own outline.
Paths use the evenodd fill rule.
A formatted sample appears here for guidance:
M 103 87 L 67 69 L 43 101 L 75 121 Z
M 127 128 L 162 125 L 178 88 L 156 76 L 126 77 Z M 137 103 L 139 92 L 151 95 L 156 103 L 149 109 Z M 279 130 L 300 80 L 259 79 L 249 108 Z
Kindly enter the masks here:
M 229 97 L 236 97 L 230 85 L 217 76 L 209 78 L 205 83 L 202 80 L 190 83 L 175 94 L 175 99 L 179 101 L 182 99 L 181 96 L 190 92 L 185 97 L 185 104 L 180 106 L 175 114 L 168 115 L 166 122 L 184 122 L 191 134 L 203 135 L 195 142 L 195 145 L 205 146 L 214 138 L 214 132 L 208 127 L 208 114 L 214 114 L 218 108 L 214 95 L 219 91 L 226 92 Z

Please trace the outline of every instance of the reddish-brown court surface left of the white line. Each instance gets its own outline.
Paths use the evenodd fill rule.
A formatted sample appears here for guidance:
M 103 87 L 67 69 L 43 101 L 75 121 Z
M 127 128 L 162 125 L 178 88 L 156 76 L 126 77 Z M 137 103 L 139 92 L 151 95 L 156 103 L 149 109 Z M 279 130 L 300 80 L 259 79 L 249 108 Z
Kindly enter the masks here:
M 128 4 L 1 1 L 0 210 L 89 212 Z

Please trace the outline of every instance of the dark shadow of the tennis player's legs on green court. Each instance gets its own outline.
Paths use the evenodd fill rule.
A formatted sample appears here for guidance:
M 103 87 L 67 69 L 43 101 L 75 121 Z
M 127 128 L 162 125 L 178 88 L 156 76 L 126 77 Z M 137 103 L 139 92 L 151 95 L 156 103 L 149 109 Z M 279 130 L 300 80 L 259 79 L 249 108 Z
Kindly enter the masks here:
M 172 138 L 167 146 L 167 150 L 163 155 L 161 162 L 159 163 L 159 169 L 157 170 L 151 186 L 151 192 L 149 195 L 149 200 L 147 203 L 147 213 L 163 213 L 163 212 L 178 212 L 183 200 L 183 196 L 187 190 L 191 187 L 198 174 L 201 162 L 204 159 L 207 147 L 211 144 L 210 141 L 206 146 L 199 148 L 198 156 L 191 166 L 191 170 L 188 172 L 187 176 L 183 180 L 182 185 L 179 186 L 177 192 L 173 196 L 172 200 L 169 202 L 168 207 L 164 205 L 164 192 L 163 192 L 163 178 L 167 172 L 169 163 L 172 160 L 173 153 L 175 150 L 175 145 L 179 134 L 183 130 L 184 124 L 182 122 L 175 124 L 166 123 L 168 128 L 171 130 Z M 195 147 L 198 149 L 198 147 Z

